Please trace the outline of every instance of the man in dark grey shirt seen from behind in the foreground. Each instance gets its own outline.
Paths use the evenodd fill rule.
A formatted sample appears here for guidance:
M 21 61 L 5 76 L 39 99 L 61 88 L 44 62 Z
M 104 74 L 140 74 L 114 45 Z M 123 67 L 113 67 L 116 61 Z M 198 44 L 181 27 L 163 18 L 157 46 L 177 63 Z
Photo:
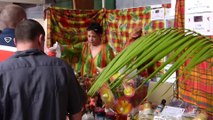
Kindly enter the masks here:
M 81 119 L 85 95 L 71 67 L 44 54 L 44 36 L 34 20 L 16 26 L 17 52 L 0 63 L 0 120 Z

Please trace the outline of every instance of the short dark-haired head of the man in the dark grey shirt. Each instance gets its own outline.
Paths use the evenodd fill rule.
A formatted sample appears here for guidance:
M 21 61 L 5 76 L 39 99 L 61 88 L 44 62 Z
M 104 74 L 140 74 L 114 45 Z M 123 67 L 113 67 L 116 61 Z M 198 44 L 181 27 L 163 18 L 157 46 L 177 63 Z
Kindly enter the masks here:
M 15 44 L 18 51 L 36 48 L 44 50 L 45 31 L 35 20 L 23 20 L 15 28 Z

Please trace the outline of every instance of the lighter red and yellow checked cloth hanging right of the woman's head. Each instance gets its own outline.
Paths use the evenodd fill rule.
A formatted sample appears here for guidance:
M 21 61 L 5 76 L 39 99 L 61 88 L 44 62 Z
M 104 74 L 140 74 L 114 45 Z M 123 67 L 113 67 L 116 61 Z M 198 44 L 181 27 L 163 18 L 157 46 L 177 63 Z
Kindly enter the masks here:
M 164 21 L 151 21 L 150 13 L 149 6 L 106 11 L 106 39 L 115 52 L 120 52 L 128 43 L 129 35 L 135 27 L 141 26 L 143 34 L 164 28 Z

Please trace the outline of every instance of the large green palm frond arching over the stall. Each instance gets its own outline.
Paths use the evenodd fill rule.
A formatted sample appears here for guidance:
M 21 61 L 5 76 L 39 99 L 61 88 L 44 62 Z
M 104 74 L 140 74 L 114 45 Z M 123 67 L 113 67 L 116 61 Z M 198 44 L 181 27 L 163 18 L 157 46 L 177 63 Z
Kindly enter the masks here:
M 150 91 L 148 95 L 161 83 L 164 83 L 174 72 L 179 70 L 188 60 L 190 60 L 190 62 L 183 68 L 182 72 L 179 73 L 177 80 L 184 72 L 190 73 L 196 65 L 213 57 L 213 41 L 194 31 L 176 28 L 161 29 L 142 36 L 123 49 L 107 65 L 93 83 L 88 91 L 88 95 L 93 96 L 105 83 L 109 83 L 107 81 L 124 66 L 126 66 L 126 69 L 119 74 L 114 81 L 109 83 L 111 90 L 115 90 L 121 86 L 126 76 L 132 73 L 132 71 L 137 69 L 137 72 L 133 76 L 135 77 L 141 71 L 153 66 L 153 64 L 168 55 L 169 57 L 166 61 L 158 66 L 152 74 L 146 77 L 137 89 L 140 89 L 150 78 L 159 74 L 167 64 L 172 63 L 172 66 L 161 76 L 155 88 Z M 210 67 L 212 66 L 213 64 L 210 65 Z

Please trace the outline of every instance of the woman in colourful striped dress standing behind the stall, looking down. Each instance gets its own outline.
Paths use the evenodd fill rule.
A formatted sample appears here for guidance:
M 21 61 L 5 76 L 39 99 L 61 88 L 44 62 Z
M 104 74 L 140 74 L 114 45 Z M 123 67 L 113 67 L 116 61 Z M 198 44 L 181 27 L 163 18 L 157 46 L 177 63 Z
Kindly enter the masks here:
M 81 48 L 81 55 L 74 67 L 81 76 L 95 77 L 114 58 L 110 45 L 102 41 L 103 29 L 99 23 L 91 23 L 87 28 L 87 42 L 73 48 Z

